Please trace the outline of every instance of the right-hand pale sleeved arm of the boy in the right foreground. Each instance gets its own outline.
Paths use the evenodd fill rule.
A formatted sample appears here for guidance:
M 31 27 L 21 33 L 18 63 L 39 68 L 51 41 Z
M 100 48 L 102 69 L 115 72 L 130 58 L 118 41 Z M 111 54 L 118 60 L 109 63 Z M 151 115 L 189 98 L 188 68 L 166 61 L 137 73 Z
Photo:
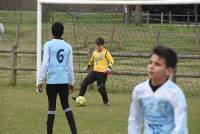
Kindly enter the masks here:
M 175 127 L 171 134 L 188 134 L 185 96 L 179 94 L 173 98 Z

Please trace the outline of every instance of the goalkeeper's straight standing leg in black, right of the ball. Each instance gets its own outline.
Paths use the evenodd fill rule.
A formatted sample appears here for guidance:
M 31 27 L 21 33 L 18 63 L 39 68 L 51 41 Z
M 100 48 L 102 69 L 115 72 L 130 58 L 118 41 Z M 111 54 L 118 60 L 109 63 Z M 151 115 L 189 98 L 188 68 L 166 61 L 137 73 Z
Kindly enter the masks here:
M 97 85 L 98 85 L 98 91 L 101 94 L 101 97 L 103 99 L 103 103 L 105 105 L 109 105 L 108 103 L 108 95 L 105 87 L 105 83 L 107 80 L 107 75 L 104 73 L 98 73 L 97 74 Z

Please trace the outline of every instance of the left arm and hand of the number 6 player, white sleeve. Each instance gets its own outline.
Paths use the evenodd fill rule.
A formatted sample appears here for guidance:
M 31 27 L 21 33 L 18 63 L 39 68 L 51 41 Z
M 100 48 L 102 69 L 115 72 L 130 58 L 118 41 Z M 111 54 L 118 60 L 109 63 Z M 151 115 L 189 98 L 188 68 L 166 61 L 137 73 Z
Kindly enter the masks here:
M 44 45 L 43 61 L 40 68 L 40 73 L 37 78 L 37 91 L 42 92 L 42 82 L 46 78 L 47 70 L 49 65 L 49 51 L 47 45 Z

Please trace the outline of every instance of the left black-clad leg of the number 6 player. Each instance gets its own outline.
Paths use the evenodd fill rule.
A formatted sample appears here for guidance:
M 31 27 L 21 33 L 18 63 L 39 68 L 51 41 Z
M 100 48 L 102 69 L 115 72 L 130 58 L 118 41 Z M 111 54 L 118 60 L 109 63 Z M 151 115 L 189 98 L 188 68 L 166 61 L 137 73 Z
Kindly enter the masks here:
M 56 98 L 57 98 L 56 85 L 47 84 L 46 94 L 48 97 L 47 134 L 52 134 L 55 111 L 56 111 Z

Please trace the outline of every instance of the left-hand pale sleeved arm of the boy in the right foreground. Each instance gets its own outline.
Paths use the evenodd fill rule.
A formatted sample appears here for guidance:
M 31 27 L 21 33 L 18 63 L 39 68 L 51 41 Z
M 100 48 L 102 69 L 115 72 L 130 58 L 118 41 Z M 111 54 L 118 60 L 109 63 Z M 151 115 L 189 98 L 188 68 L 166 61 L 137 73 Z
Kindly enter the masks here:
M 128 118 L 128 134 L 141 134 L 143 123 L 143 110 L 136 96 L 136 89 L 133 90 L 131 96 L 131 104 Z

